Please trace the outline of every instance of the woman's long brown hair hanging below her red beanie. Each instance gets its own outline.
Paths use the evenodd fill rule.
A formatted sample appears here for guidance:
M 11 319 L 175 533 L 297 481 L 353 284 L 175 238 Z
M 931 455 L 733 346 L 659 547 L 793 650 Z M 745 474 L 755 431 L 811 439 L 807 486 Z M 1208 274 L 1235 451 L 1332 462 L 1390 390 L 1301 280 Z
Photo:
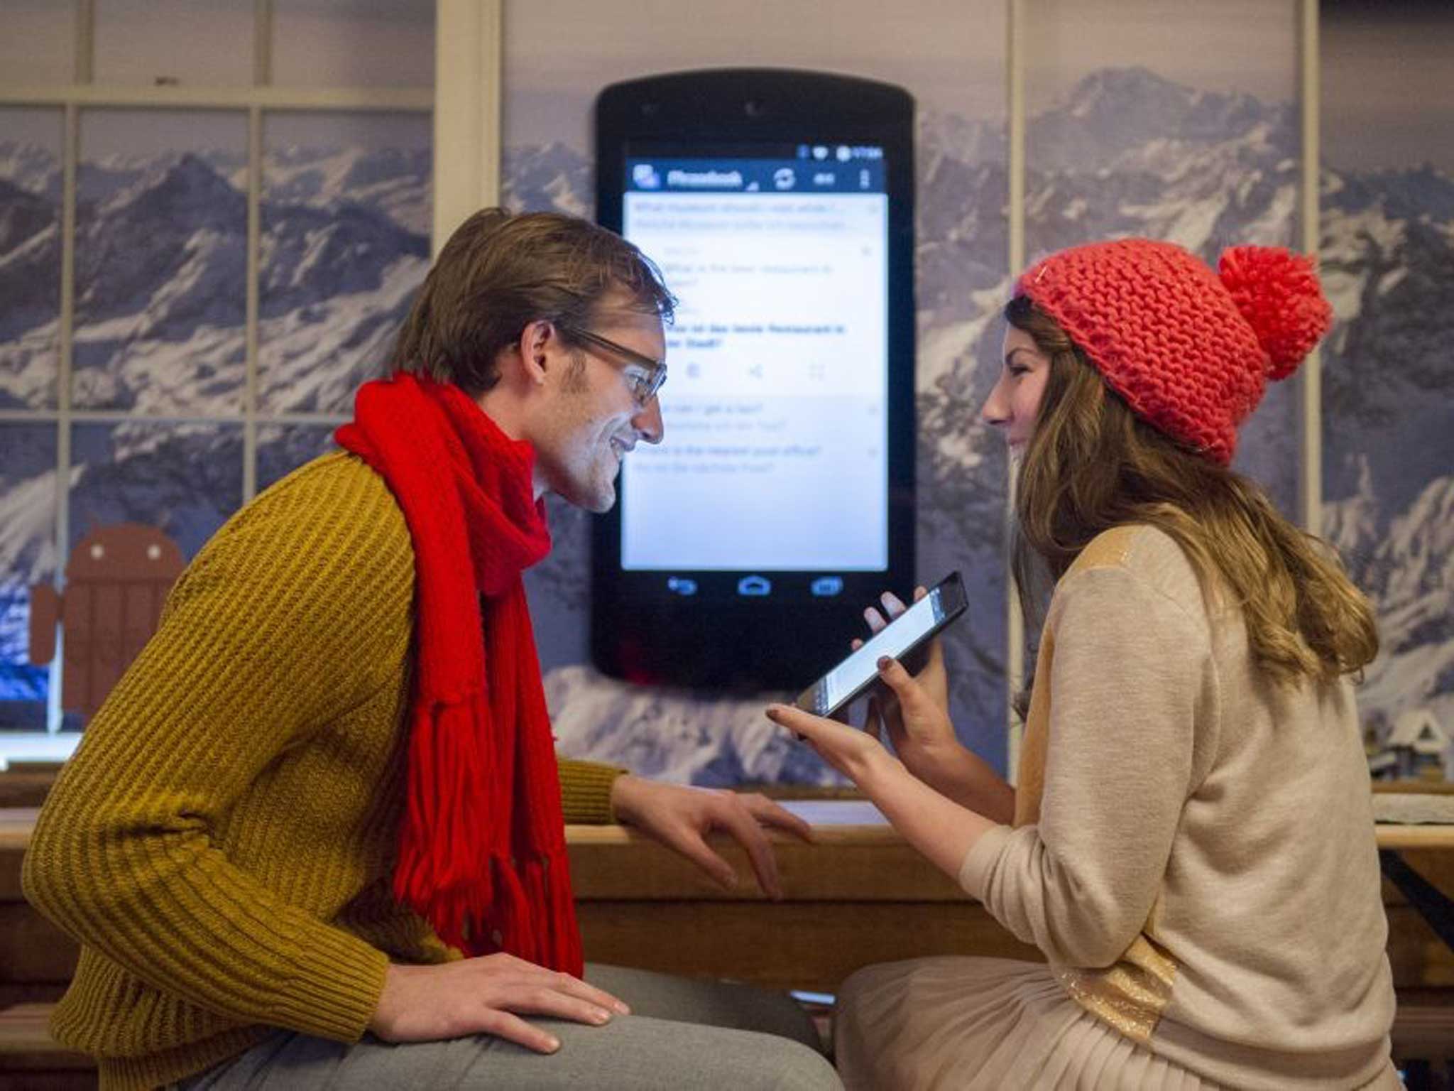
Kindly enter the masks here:
M 1013 575 L 1027 620 L 1092 538 L 1149 524 L 1185 550 L 1208 602 L 1217 594 L 1240 608 L 1253 659 L 1278 682 L 1332 681 L 1373 660 L 1373 608 L 1328 546 L 1246 477 L 1136 416 L 1027 297 L 1005 319 L 1050 358 L 1015 495 Z

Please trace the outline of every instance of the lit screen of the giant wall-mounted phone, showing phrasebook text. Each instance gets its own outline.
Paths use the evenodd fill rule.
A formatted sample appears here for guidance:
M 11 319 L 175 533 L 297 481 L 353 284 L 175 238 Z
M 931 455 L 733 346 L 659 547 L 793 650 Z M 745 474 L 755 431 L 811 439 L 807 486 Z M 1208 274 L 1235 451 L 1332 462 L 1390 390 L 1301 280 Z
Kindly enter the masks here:
M 666 441 L 625 461 L 628 570 L 888 566 L 880 148 L 627 159 L 624 234 L 680 305 Z

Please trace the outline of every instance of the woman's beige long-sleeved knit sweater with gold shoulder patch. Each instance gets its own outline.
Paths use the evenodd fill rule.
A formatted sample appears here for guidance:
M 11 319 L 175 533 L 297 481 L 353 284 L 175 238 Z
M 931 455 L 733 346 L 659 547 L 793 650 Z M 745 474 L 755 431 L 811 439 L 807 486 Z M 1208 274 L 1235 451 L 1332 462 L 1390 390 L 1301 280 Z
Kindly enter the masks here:
M 1207 1079 L 1351 1088 L 1387 1065 L 1351 685 L 1274 685 L 1162 531 L 1102 534 L 1057 585 L 1016 823 L 960 880 L 1076 1002 Z

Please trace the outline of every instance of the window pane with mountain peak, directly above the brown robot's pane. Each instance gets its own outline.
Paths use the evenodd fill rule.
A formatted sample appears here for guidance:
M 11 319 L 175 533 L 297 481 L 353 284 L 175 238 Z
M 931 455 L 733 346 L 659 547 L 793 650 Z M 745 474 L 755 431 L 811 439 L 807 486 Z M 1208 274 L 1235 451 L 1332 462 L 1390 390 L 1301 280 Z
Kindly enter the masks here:
M 81 113 L 73 403 L 240 413 L 247 119 Z

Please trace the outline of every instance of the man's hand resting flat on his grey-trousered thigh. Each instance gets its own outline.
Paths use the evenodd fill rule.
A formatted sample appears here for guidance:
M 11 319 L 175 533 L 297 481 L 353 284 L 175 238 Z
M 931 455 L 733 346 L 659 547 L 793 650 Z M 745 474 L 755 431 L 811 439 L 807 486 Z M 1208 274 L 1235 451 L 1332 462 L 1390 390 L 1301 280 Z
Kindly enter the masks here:
M 512 954 L 486 954 L 432 966 L 390 964 L 368 1028 L 384 1042 L 494 1034 L 537 1053 L 554 1053 L 560 1039 L 515 1012 L 599 1027 L 630 1011 L 580 978 Z

